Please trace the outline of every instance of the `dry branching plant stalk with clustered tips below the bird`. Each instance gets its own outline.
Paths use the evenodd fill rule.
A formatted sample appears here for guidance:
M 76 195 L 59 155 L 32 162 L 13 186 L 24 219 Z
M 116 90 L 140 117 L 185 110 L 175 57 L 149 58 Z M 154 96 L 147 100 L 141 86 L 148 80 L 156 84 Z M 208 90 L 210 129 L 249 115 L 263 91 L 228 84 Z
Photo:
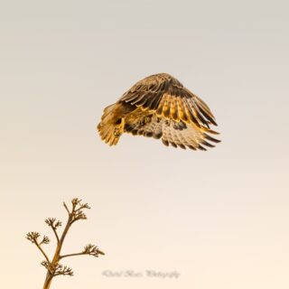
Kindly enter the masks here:
M 35 244 L 36 247 L 42 252 L 42 255 L 44 256 L 45 260 L 42 261 L 42 266 L 44 266 L 47 269 L 46 273 L 46 278 L 45 282 L 43 285 L 43 289 L 48 289 L 51 286 L 51 281 L 53 277 L 58 276 L 58 275 L 73 275 L 73 271 L 69 266 L 63 266 L 60 264 L 60 260 L 68 257 L 68 256 L 79 256 L 79 255 L 89 255 L 89 256 L 96 256 L 98 257 L 99 255 L 105 255 L 102 251 L 98 249 L 97 246 L 89 244 L 83 248 L 83 250 L 79 253 L 73 253 L 73 254 L 68 254 L 68 255 L 61 255 L 61 248 L 63 246 L 64 239 L 70 229 L 70 226 L 77 220 L 79 219 L 87 219 L 87 216 L 83 213 L 83 210 L 85 209 L 90 209 L 89 205 L 87 203 L 82 204 L 81 200 L 79 199 L 73 199 L 71 200 L 71 210 L 69 207 L 66 205 L 65 202 L 63 202 L 63 206 L 65 210 L 68 213 L 68 220 L 65 225 L 65 228 L 62 231 L 62 234 L 60 235 L 58 233 L 58 228 L 61 227 L 61 221 L 56 220 L 54 218 L 48 218 L 45 219 L 45 223 L 51 227 L 56 241 L 57 241 L 57 246 L 55 249 L 54 256 L 52 259 L 50 259 L 45 251 L 42 248 L 42 245 L 49 244 L 50 239 L 47 236 L 43 236 L 42 240 L 40 240 L 41 235 L 38 232 L 29 232 L 26 235 L 26 238 L 31 241 L 33 244 Z

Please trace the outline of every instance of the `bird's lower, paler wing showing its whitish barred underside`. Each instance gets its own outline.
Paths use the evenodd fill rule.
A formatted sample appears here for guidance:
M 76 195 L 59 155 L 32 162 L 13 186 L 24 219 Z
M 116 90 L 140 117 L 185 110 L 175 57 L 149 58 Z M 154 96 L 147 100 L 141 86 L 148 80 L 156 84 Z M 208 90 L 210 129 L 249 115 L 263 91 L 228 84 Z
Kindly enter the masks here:
M 206 151 L 204 146 L 213 147 L 211 143 L 219 143 L 218 139 L 211 137 L 198 126 L 157 117 L 155 114 L 131 118 L 125 125 L 125 132 L 154 138 L 162 137 L 163 144 L 180 146 L 183 149 L 189 147 L 192 150 Z

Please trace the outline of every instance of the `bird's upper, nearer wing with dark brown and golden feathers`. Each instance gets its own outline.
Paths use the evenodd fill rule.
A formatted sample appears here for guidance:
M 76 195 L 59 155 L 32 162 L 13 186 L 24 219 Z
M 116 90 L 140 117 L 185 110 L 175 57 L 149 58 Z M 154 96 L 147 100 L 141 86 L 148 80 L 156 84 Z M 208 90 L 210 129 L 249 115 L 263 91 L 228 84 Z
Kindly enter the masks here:
M 167 120 L 193 124 L 199 128 L 209 129 L 210 124 L 217 126 L 206 103 L 166 73 L 138 81 L 120 101 Z

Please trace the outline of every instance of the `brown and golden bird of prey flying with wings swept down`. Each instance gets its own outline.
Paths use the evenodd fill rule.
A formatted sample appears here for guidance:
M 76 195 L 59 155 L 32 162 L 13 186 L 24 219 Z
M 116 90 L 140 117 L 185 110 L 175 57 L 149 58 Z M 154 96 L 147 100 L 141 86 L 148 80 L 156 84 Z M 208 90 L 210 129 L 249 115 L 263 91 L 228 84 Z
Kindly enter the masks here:
M 162 138 L 163 144 L 206 151 L 219 140 L 210 108 L 167 73 L 154 74 L 135 83 L 113 105 L 104 109 L 98 132 L 109 145 L 124 133 Z

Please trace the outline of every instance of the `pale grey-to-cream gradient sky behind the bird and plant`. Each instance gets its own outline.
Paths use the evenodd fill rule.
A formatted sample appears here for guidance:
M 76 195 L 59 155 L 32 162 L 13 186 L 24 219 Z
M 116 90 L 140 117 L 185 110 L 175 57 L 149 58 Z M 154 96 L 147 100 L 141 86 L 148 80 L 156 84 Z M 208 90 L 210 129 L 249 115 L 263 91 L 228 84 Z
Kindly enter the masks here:
M 287 289 L 287 1 L 6 1 L 0 4 L 0 193 L 5 288 L 40 288 L 63 200 L 89 219 L 64 251 L 94 242 L 51 288 Z M 208 152 L 124 135 L 108 147 L 102 110 L 157 72 L 204 99 L 222 143 Z M 177 280 L 107 278 L 177 270 Z

